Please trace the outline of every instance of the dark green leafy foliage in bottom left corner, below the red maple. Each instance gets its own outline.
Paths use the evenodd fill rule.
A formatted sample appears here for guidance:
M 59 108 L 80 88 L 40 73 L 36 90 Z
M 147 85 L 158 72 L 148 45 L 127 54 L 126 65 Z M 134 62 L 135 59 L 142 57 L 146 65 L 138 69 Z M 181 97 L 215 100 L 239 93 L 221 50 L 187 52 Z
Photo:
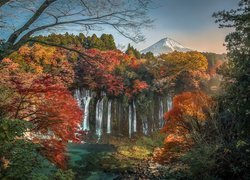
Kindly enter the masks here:
M 0 120 L 0 179 L 73 179 L 71 170 L 52 173 L 54 167 L 40 155 L 40 145 L 24 138 L 30 128 L 27 121 Z

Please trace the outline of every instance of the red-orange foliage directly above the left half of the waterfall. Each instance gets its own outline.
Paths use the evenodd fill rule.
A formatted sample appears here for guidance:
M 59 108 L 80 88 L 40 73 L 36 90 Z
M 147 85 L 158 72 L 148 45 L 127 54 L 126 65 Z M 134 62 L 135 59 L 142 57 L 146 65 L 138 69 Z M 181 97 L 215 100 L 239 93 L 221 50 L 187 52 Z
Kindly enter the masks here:
M 135 70 L 141 61 L 121 51 L 86 50 L 88 59 L 79 61 L 77 75 L 83 86 L 93 90 L 106 90 L 109 94 L 119 96 L 125 94 L 131 97 L 148 88 L 144 81 L 132 78 L 131 84 L 124 83 L 127 69 Z

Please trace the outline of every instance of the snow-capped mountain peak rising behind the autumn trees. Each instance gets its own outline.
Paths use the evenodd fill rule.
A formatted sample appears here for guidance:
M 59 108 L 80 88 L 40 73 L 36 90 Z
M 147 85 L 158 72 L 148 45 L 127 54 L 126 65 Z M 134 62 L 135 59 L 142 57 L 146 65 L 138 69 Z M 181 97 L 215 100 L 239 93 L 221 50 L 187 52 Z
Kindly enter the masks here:
M 191 49 L 182 46 L 177 41 L 171 39 L 171 38 L 164 38 L 158 41 L 157 43 L 153 44 L 152 46 L 149 46 L 148 48 L 141 51 L 141 53 L 147 53 L 152 52 L 155 56 L 158 56 L 160 54 L 166 54 L 173 51 L 180 51 L 180 52 L 187 52 L 192 51 Z

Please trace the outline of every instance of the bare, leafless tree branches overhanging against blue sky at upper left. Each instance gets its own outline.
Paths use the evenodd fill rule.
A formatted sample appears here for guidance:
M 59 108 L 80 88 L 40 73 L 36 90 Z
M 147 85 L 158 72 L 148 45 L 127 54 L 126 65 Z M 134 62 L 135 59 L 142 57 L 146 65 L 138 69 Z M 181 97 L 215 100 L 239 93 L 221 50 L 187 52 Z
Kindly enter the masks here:
M 28 0 L 4 1 L 1 3 L 1 31 L 10 32 L 1 39 L 6 39 L 1 45 L 1 57 L 8 56 L 29 41 L 36 41 L 52 46 L 61 46 L 56 43 L 41 42 L 32 37 L 44 31 L 75 26 L 82 32 L 100 30 L 110 26 L 123 36 L 133 40 L 143 39 L 141 28 L 148 26 L 151 21 L 145 14 L 149 5 L 148 0 L 43 0 L 30 2 Z M 20 13 L 22 12 L 22 13 Z M 10 16 L 23 15 L 9 21 Z M 46 21 L 44 20 L 46 18 Z M 13 26 L 14 27 L 13 27 Z M 63 47 L 63 46 L 61 46 Z M 68 50 L 73 50 L 66 48 Z M 81 52 L 83 55 L 84 53 Z

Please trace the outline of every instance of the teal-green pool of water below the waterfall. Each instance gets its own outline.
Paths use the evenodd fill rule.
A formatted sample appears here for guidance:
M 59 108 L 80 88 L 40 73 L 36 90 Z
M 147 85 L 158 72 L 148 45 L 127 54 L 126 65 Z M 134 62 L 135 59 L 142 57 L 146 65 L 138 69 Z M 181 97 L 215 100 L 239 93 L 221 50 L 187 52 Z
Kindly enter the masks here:
M 69 167 L 79 180 L 113 180 L 118 174 L 107 172 L 100 160 L 112 152 L 109 144 L 68 144 Z

